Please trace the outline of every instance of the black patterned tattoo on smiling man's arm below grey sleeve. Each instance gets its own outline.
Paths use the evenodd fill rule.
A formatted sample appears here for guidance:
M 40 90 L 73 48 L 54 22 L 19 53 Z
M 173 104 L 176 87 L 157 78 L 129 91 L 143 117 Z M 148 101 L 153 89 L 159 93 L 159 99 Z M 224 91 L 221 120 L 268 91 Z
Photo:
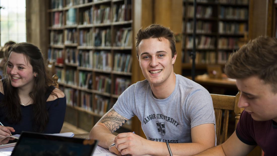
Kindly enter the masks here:
M 101 121 L 113 133 L 127 122 L 124 117 L 120 116 L 114 109 L 104 116 Z

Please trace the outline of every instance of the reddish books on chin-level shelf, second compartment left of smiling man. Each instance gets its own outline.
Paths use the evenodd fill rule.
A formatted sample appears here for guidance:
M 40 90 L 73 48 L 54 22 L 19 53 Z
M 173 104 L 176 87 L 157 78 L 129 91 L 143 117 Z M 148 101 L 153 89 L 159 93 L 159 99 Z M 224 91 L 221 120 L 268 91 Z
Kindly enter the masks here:
M 95 77 L 96 90 L 104 93 L 111 93 L 111 78 L 109 76 L 96 76 Z

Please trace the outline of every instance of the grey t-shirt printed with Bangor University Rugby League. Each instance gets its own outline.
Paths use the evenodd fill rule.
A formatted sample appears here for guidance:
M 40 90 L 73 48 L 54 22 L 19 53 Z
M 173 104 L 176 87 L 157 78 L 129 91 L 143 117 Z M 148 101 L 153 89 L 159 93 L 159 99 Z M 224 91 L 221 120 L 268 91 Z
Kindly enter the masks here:
M 191 128 L 215 124 L 209 92 L 198 83 L 175 75 L 175 89 L 167 98 L 156 99 L 148 81 L 143 80 L 127 88 L 113 106 L 127 119 L 136 115 L 148 140 L 190 143 Z

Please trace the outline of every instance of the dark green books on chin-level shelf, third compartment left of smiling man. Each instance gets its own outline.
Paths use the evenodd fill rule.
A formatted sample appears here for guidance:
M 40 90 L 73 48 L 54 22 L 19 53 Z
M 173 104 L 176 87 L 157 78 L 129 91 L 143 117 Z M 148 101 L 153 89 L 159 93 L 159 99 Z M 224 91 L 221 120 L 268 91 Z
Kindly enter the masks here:
M 79 71 L 79 87 L 92 89 L 92 73 L 89 71 Z

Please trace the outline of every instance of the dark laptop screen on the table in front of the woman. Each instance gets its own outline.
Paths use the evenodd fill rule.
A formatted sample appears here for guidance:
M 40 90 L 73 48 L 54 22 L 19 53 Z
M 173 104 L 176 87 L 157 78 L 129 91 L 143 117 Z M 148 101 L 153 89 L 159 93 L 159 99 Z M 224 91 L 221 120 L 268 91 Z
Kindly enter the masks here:
M 11 156 L 68 155 L 91 156 L 97 140 L 61 137 L 33 132 L 22 132 Z

